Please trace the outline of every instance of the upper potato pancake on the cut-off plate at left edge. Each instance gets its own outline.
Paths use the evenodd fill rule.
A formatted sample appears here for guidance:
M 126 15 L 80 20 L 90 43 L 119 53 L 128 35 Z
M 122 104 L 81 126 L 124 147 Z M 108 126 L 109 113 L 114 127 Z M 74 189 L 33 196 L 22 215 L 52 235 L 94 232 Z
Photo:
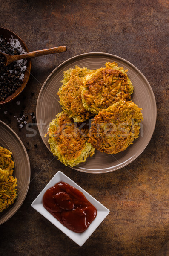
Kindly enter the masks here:
M 0 146 L 0 169 L 9 171 L 9 175 L 12 175 L 13 168 L 14 161 L 12 160 L 11 151 Z

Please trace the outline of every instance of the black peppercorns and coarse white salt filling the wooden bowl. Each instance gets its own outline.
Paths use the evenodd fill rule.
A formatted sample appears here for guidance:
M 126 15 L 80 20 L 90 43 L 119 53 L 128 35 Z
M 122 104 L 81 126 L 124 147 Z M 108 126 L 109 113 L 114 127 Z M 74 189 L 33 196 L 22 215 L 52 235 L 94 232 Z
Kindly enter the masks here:
M 0 35 L 0 52 L 11 55 L 25 53 L 18 39 L 12 38 L 7 41 L 2 35 Z M 19 60 L 6 67 L 5 57 L 0 54 L 0 101 L 4 101 L 22 85 L 26 64 L 27 60 Z

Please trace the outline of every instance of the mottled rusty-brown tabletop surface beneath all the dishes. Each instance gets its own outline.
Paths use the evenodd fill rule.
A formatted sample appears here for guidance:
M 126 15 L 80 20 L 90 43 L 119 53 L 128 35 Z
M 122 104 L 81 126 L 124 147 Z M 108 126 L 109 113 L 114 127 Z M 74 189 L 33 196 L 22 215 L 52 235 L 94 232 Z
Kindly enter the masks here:
M 0 226 L 0 255 L 152 256 L 169 241 L 168 15 L 166 0 L 0 1 L 0 26 L 19 35 L 29 51 L 59 45 L 68 49 L 32 59 L 25 90 L 0 109 L 0 119 L 14 129 L 26 147 L 29 141 L 31 163 L 26 199 Z M 30 113 L 36 110 L 47 76 L 63 61 L 85 52 L 107 52 L 130 61 L 148 79 L 157 102 L 157 123 L 147 148 L 126 168 L 107 174 L 74 171 L 52 160 L 38 130 L 35 137 L 26 137 L 26 129 L 19 131 L 14 118 L 25 105 L 24 114 L 31 122 Z M 58 170 L 110 210 L 83 247 L 30 206 Z

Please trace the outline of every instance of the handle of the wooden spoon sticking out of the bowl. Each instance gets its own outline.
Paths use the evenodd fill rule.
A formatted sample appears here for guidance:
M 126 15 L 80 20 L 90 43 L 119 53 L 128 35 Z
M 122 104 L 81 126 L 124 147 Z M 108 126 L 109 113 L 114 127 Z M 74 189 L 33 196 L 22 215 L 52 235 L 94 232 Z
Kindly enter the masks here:
M 53 47 L 50 49 L 38 50 L 38 51 L 28 52 L 28 53 L 21 54 L 21 55 L 15 55 L 15 58 L 16 58 L 16 60 L 21 60 L 21 59 L 25 59 L 25 58 L 34 58 L 34 57 L 38 57 L 38 56 L 42 56 L 42 55 L 46 55 L 46 54 L 57 53 L 57 52 L 66 52 L 66 46 L 57 46 L 57 47 Z

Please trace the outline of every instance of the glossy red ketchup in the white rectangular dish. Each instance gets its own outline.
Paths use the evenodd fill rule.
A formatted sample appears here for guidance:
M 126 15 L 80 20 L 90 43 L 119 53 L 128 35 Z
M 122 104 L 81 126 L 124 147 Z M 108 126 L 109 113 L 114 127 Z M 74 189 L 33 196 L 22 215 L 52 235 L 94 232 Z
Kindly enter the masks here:
M 97 215 L 97 209 L 82 192 L 62 181 L 45 192 L 43 206 L 65 227 L 77 233 L 86 230 Z

